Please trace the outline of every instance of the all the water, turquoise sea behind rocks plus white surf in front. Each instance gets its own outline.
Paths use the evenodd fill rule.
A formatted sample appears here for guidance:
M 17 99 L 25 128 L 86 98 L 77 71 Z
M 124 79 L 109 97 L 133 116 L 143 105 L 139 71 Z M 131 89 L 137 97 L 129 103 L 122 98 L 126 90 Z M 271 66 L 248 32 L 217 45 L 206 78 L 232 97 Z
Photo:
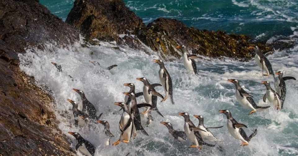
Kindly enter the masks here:
M 54 14 L 65 19 L 74 1 L 40 2 L 45 4 Z M 137 15 L 141 16 L 146 22 L 154 20 L 158 16 L 167 16 L 180 20 L 184 19 L 183 22 L 187 25 L 200 29 L 224 29 L 233 32 L 237 29 L 235 23 L 242 21 L 240 23 L 244 23 L 241 25 L 246 26 L 246 30 L 239 30 L 237 33 L 251 31 L 252 35 L 256 36 L 255 38 L 260 38 L 257 37 L 260 35 L 262 37 L 271 34 L 268 36 L 269 40 L 267 42 L 274 42 L 279 35 L 288 38 L 285 42 L 297 41 L 296 1 L 233 0 L 198 2 L 177 0 L 152 1 L 150 3 L 147 1 L 125 2 L 131 10 L 136 11 Z M 156 7 L 154 7 L 155 4 Z M 195 11 L 195 7 L 199 9 Z M 209 13 L 206 14 L 206 12 Z M 211 14 L 211 12 L 215 13 Z M 222 14 L 223 16 L 216 17 Z M 194 18 L 195 15 L 197 18 Z M 199 17 L 204 16 L 208 18 L 199 19 Z M 187 20 L 188 17 L 189 20 Z M 238 17 L 238 19 L 233 17 Z M 246 19 L 250 20 L 246 22 Z M 214 22 L 213 25 L 212 22 Z M 232 23 L 235 25 L 227 26 Z M 266 24 L 276 26 L 271 29 Z M 208 25 L 213 27 L 210 28 Z M 284 29 L 280 29 L 281 27 L 284 27 Z M 278 34 L 279 32 L 287 33 Z M 264 35 L 262 35 L 263 33 Z M 227 79 L 238 79 L 240 85 L 254 96 L 257 105 L 265 106 L 269 105 L 269 102 L 264 103 L 262 101 L 266 89 L 260 82 L 268 80 L 273 86 L 273 78 L 263 77 L 254 60 L 241 62 L 229 58 L 197 60 L 198 75 L 188 73 L 183 66 L 182 60 L 165 62 L 173 81 L 176 104 L 172 105 L 169 99 L 163 103 L 158 102 L 158 109 L 165 118 L 162 118 L 156 112 L 152 112 L 154 121 L 148 127 L 145 127 L 149 136 L 144 136 L 141 132 L 138 132 L 137 137 L 131 140 L 129 144 L 120 143 L 117 146 L 105 146 L 107 137 L 101 124 L 94 124 L 95 128 L 90 129 L 88 127 L 75 128 L 71 112 L 72 106 L 66 99 L 78 101 L 79 104 L 81 100 L 72 88 L 83 90 L 88 100 L 97 108 L 97 114 L 104 113 L 102 119 L 110 123 L 111 132 L 115 136 L 111 139 L 113 143 L 120 136 L 118 124 L 122 113 L 118 111 L 119 106 L 113 103 L 124 101 L 122 92 L 129 91 L 129 88 L 123 86 L 123 84 L 134 83 L 138 92 L 142 91 L 143 87 L 142 82 L 136 80 L 138 77 L 146 77 L 151 83 L 160 83 L 158 78 L 159 66 L 152 61 L 153 59 L 159 59 L 159 56 L 154 51 L 146 54 L 144 51 L 133 50 L 129 47 L 115 49 L 113 47 L 116 45 L 113 42 L 101 42 L 101 46 L 89 47 L 82 47 L 81 42 L 78 41 L 74 45 L 65 48 L 48 43 L 44 45 L 44 50 L 27 49 L 25 54 L 19 55 L 20 69 L 29 76 L 34 76 L 36 83 L 41 87 L 47 86 L 46 91 L 55 98 L 53 104 L 55 107 L 53 109 L 60 121 L 59 128 L 66 136 L 69 136 L 73 149 L 75 149 L 77 141 L 67 133 L 68 131 L 79 132 L 85 139 L 89 140 L 96 147 L 96 156 L 126 155 L 129 152 L 130 155 L 138 156 L 298 155 L 297 81 L 286 81 L 287 97 L 282 111 L 269 108 L 248 115 L 250 110 L 242 108 L 236 101 L 234 85 L 228 82 Z M 275 50 L 273 55 L 268 56 L 273 70 L 283 71 L 285 76 L 298 78 L 297 52 L 298 44 L 291 49 Z M 95 66 L 89 60 L 96 60 L 101 66 Z M 63 73 L 57 72 L 51 62 L 60 64 Z M 118 67 L 107 71 L 106 67 L 113 64 L 117 64 Z M 68 75 L 71 75 L 74 81 Z M 161 87 L 157 87 L 157 91 L 164 95 Z M 137 101 L 138 103 L 145 102 L 143 97 L 138 98 Z M 218 112 L 219 109 L 230 110 L 239 123 L 247 125 L 248 128 L 244 128 L 247 135 L 250 135 L 257 128 L 258 133 L 252 138 L 248 146 L 241 147 L 240 141 L 229 134 L 226 126 L 227 119 L 224 114 Z M 197 149 L 188 148 L 191 145 L 189 141 L 179 142 L 174 140 L 167 128 L 160 124 L 160 121 L 170 122 L 174 129 L 183 130 L 184 119 L 178 115 L 178 112 L 191 114 L 190 118 L 195 125 L 198 124 L 198 120 L 192 115 L 202 115 L 206 127 L 224 126 L 211 130 L 214 136 L 221 140 L 218 144 L 223 147 L 224 151 L 221 152 L 216 148 L 207 146 L 203 146 L 203 149 L 198 151 Z M 142 117 L 143 125 L 145 122 L 146 118 Z

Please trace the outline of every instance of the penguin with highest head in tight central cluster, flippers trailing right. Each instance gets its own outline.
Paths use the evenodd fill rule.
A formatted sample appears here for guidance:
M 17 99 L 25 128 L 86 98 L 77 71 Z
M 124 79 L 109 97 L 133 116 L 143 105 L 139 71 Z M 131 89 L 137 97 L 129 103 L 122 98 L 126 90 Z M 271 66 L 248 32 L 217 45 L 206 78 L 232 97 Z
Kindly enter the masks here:
M 147 108 L 144 112 L 142 112 L 141 114 L 146 114 L 149 112 L 149 110 L 155 110 L 158 114 L 160 114 L 162 117 L 164 117 L 159 110 L 157 109 L 157 100 L 154 100 L 154 103 L 152 103 L 153 101 L 153 96 L 159 96 L 160 98 L 164 98 L 160 93 L 158 93 L 154 87 L 156 86 L 162 86 L 159 83 L 154 83 L 154 84 L 150 84 L 147 78 L 137 78 L 137 80 L 141 81 L 144 83 L 143 86 L 143 96 L 144 99 L 146 101 L 147 104 L 151 104 L 152 106 L 150 108 Z

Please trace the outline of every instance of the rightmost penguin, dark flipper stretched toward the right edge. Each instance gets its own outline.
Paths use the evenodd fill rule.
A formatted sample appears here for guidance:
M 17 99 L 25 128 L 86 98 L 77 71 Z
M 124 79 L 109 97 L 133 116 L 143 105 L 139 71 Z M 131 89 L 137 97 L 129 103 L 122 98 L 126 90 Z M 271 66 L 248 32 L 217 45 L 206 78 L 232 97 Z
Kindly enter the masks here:
M 276 92 L 280 96 L 282 106 L 283 106 L 283 103 L 286 100 L 286 93 L 287 93 L 285 81 L 291 80 L 291 79 L 296 80 L 296 78 L 291 76 L 283 77 L 283 73 L 281 71 L 278 71 L 275 74 L 278 75 L 278 77 L 275 78 L 274 86 L 275 86 Z

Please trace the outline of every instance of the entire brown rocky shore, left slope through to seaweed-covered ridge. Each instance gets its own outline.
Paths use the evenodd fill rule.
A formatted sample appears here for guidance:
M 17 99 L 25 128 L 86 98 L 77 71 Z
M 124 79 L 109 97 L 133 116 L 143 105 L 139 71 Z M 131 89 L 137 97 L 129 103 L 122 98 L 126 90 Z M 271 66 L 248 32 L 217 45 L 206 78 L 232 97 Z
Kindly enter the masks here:
M 46 42 L 69 45 L 79 34 L 87 44 L 97 39 L 142 49 L 143 42 L 165 60 L 180 58 L 175 47 L 182 44 L 194 54 L 241 60 L 252 58 L 248 46 L 272 49 L 244 35 L 189 28 L 174 19 L 146 26 L 122 0 L 76 0 L 66 22 L 38 0 L 0 0 L 0 155 L 73 154 L 58 128 L 54 99 L 20 71 L 18 54 L 29 47 L 43 49 Z

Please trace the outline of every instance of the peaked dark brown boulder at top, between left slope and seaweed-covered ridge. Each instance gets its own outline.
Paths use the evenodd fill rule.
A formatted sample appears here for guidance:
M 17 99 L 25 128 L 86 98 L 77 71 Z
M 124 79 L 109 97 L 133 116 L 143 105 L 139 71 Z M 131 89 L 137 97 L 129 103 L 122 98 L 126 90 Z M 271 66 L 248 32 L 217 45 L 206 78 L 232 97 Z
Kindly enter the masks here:
M 79 28 L 88 41 L 119 42 L 118 34 L 137 34 L 145 27 L 122 0 L 76 0 L 66 23 Z

